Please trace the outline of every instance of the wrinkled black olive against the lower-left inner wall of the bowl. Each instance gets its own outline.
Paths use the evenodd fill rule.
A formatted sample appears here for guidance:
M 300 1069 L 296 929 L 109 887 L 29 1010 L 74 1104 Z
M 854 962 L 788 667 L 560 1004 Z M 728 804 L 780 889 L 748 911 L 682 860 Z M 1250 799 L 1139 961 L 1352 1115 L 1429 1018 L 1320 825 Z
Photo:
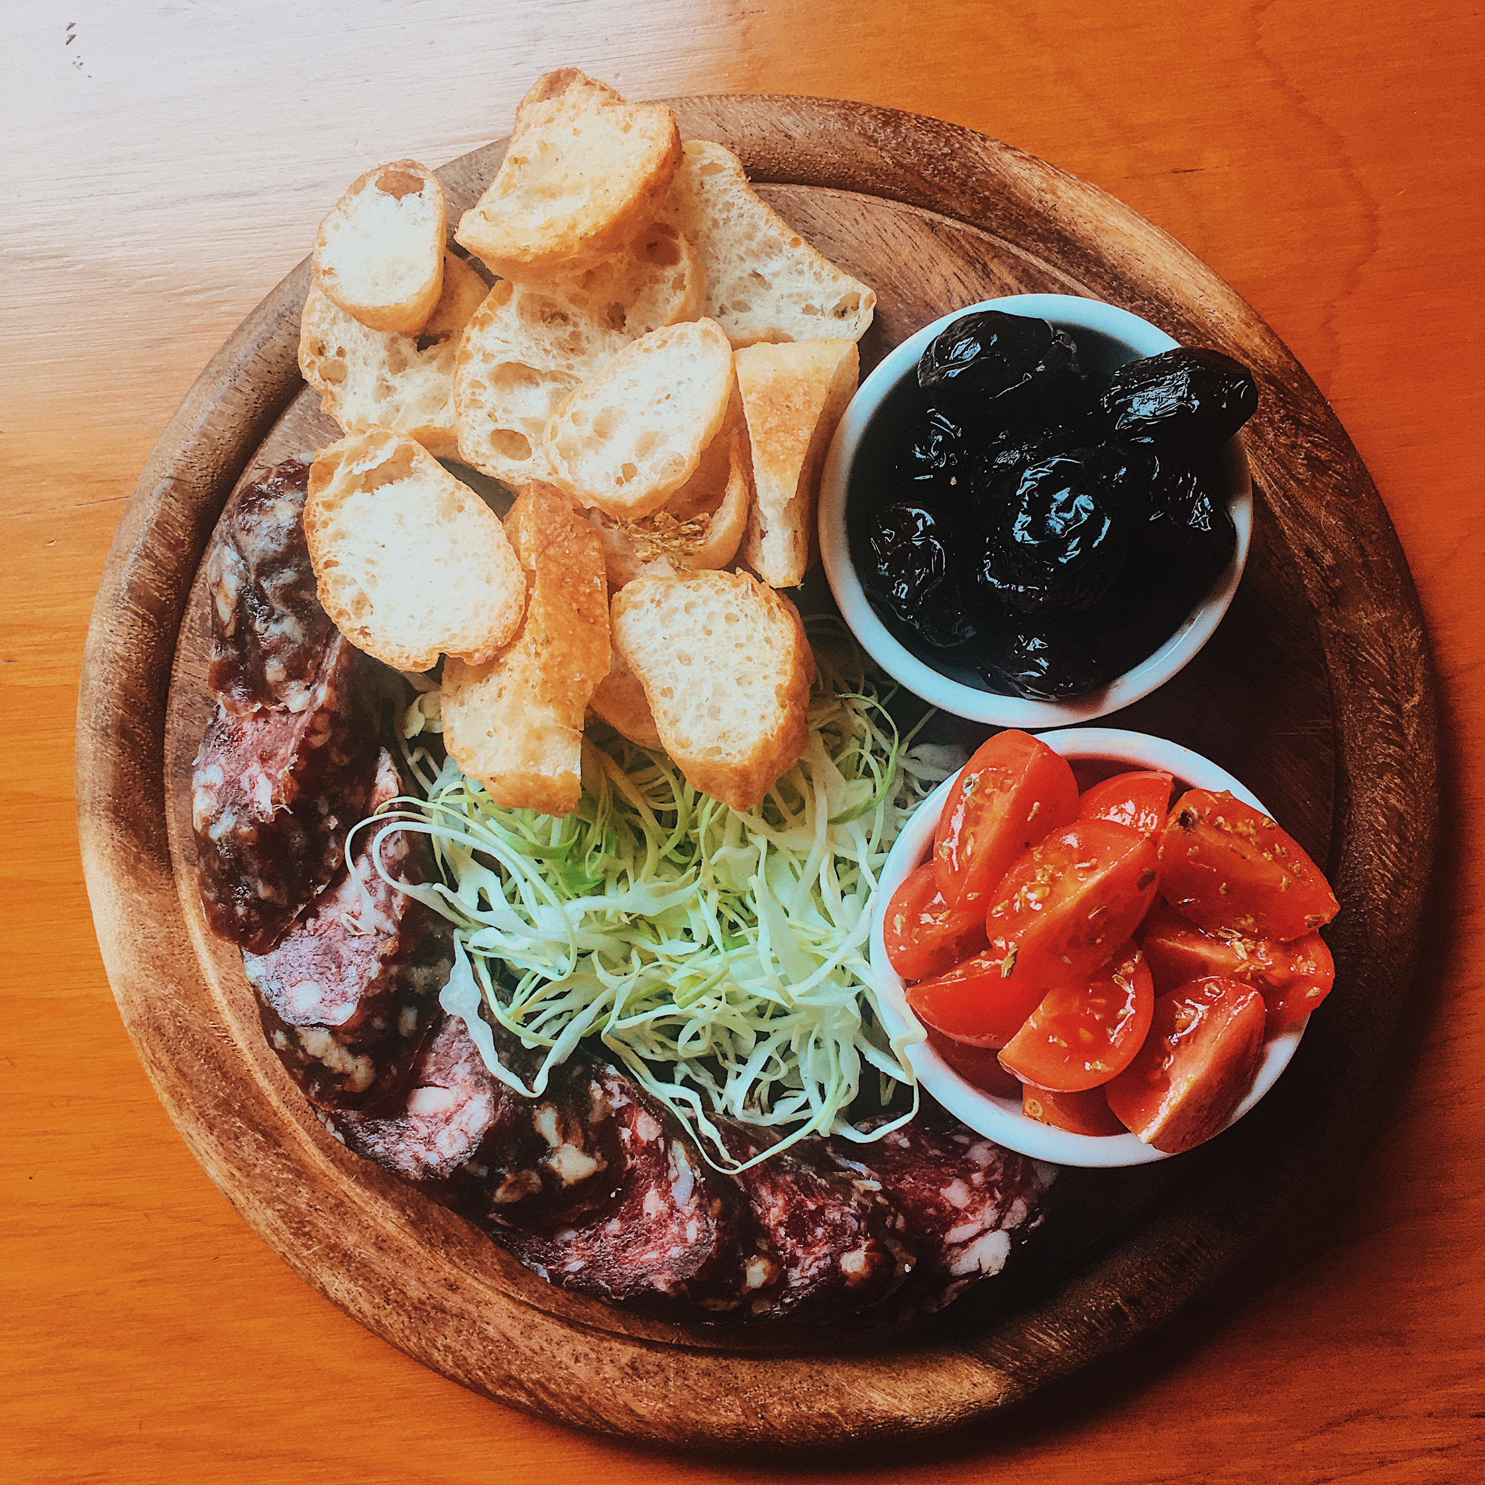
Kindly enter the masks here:
M 872 523 L 872 564 L 861 573 L 863 587 L 930 644 L 962 644 L 974 637 L 959 588 L 967 541 L 967 532 L 927 506 L 890 505 Z

